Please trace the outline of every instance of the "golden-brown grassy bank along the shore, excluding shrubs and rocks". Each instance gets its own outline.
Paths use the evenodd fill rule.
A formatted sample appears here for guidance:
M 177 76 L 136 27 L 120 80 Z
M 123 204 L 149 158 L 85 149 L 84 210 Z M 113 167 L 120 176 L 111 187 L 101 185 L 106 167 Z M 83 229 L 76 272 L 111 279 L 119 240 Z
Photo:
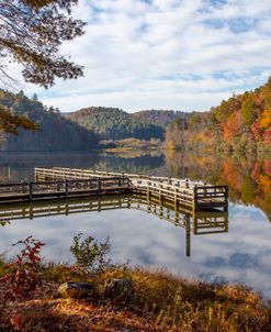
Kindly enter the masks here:
M 3 275 L 0 263 L 0 276 Z M 126 266 L 86 277 L 76 266 L 39 264 L 42 286 L 4 308 L 0 331 L 270 331 L 271 309 L 251 290 L 191 281 L 165 272 Z M 61 283 L 108 278 L 132 281 L 129 302 L 95 295 L 88 300 L 55 298 Z M 0 298 L 4 285 L 0 288 Z M 13 328 L 12 328 L 13 325 Z

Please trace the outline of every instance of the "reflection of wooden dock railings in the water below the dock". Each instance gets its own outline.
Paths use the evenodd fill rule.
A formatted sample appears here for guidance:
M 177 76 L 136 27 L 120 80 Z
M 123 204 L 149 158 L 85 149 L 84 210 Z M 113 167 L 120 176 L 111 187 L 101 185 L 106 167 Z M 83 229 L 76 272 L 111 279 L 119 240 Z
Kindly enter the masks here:
M 146 195 L 109 196 L 99 198 L 31 201 L 0 206 L 0 221 L 34 219 L 41 217 L 72 214 L 88 211 L 106 211 L 113 209 L 136 209 L 151 213 L 185 230 L 187 255 L 191 252 L 191 234 L 225 233 L 228 231 L 228 213 L 223 211 L 191 212 L 174 210 L 167 202 L 157 203 L 146 199 Z

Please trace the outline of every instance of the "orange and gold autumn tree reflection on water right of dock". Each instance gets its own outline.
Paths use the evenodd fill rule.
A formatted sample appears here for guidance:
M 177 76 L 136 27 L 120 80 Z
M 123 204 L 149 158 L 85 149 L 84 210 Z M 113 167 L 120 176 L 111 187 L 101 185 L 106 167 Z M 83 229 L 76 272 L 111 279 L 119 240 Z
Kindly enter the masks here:
M 234 156 L 174 153 L 166 156 L 166 163 L 172 176 L 228 185 L 232 201 L 259 207 L 270 219 L 271 157 L 250 161 Z

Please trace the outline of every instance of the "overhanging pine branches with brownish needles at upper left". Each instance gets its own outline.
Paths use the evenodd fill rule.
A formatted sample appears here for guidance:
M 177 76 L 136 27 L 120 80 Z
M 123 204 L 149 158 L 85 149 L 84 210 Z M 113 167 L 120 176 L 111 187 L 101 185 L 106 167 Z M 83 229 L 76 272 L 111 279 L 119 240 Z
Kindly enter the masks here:
M 59 54 L 65 41 L 83 34 L 84 23 L 70 13 L 78 0 L 0 0 L 0 81 L 10 85 L 8 65 L 22 66 L 25 81 L 48 88 L 56 78 L 82 76 L 82 67 Z M 27 129 L 25 119 L 13 118 L 0 107 L 2 130 L 8 123 Z M 10 117 L 9 117 L 10 115 Z M 22 121 L 21 121 L 22 120 Z

